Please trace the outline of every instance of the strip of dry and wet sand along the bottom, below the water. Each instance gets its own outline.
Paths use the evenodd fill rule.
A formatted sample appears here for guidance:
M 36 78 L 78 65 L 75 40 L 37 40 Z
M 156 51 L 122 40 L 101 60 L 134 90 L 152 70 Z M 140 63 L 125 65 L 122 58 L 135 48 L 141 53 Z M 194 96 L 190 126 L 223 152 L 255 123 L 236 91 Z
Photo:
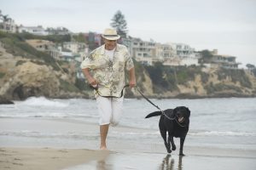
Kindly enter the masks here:
M 198 148 L 197 148 L 198 149 Z M 197 150 L 195 149 L 195 150 Z M 177 156 L 176 154 L 31 147 L 0 147 L 1 169 L 26 170 L 82 170 L 82 169 L 159 169 L 170 166 L 181 169 L 253 169 L 256 157 L 237 156 L 234 150 L 211 155 L 214 149 L 201 154 Z M 230 155 L 227 156 L 226 154 Z M 235 156 L 231 156 L 235 154 Z M 111 167 L 111 168 L 110 168 Z M 171 168 L 172 169 L 172 168 Z

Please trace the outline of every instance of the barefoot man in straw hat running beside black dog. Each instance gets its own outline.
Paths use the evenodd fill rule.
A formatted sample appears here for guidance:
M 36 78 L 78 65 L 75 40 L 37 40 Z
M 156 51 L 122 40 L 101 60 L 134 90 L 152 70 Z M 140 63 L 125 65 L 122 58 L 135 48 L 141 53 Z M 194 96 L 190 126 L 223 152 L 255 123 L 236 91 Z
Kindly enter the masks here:
M 113 29 L 102 34 L 104 44 L 92 51 L 81 64 L 90 86 L 96 88 L 96 103 L 100 115 L 101 150 L 107 150 L 109 124 L 117 125 L 123 108 L 125 68 L 129 71 L 129 86 L 136 86 L 133 61 L 128 49 L 117 43 L 119 35 Z

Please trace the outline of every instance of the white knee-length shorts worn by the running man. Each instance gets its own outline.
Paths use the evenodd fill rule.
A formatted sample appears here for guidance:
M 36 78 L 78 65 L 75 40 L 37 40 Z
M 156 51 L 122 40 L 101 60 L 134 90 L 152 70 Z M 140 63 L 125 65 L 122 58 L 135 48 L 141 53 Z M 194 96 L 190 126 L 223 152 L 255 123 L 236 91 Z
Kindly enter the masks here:
M 123 112 L 124 96 L 121 98 L 104 98 L 96 97 L 96 103 L 100 115 L 99 124 L 112 124 L 116 126 L 119 123 L 120 116 Z

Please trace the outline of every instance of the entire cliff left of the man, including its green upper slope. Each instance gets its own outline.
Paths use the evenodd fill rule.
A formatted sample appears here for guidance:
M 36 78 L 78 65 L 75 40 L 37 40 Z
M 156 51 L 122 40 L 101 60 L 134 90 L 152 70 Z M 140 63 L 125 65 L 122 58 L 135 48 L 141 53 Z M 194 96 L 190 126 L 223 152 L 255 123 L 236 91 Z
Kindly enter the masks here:
M 89 97 L 75 86 L 75 64 L 58 63 L 49 54 L 10 35 L 0 34 L 0 39 L 0 96 L 3 99 Z

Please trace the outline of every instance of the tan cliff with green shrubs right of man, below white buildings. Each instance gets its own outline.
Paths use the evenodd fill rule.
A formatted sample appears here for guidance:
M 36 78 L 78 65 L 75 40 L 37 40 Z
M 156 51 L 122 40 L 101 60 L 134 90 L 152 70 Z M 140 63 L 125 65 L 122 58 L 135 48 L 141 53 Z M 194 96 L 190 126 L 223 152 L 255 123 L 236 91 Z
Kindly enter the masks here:
M 255 97 L 256 77 L 251 71 L 165 66 L 156 63 L 137 72 L 137 83 L 154 98 Z M 135 94 L 137 97 L 140 94 Z

